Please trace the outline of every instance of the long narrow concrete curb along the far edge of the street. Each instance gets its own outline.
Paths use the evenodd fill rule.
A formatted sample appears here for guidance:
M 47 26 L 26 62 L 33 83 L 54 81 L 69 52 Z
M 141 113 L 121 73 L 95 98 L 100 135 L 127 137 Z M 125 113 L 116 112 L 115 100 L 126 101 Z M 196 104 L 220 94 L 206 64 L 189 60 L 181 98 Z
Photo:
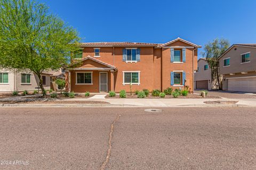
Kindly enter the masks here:
M 173 105 L 173 106 L 141 106 L 133 104 L 0 104 L 0 107 L 17 107 L 17 108 L 38 108 L 38 107 L 135 107 L 135 108 L 177 108 L 177 107 L 198 107 L 198 108 L 209 108 L 209 107 L 255 107 L 248 106 L 245 104 L 187 104 L 187 105 Z

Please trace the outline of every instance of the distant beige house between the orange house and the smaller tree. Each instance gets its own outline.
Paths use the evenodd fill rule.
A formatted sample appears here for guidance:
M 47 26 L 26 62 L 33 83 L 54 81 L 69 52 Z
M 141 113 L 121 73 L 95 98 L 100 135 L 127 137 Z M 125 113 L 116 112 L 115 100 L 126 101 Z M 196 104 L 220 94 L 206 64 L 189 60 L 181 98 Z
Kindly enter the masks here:
M 194 83 L 195 89 L 212 90 L 217 88 L 218 82 L 217 80 L 212 80 L 211 68 L 205 58 L 201 58 L 197 61 Z

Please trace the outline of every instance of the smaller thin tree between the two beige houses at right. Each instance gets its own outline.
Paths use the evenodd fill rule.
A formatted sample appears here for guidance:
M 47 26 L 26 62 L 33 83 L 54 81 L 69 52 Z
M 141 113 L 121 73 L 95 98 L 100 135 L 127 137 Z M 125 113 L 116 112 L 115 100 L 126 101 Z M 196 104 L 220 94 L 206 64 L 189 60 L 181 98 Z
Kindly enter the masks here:
M 207 43 L 204 46 L 203 56 L 206 58 L 210 68 L 212 80 L 218 81 L 219 90 L 222 89 L 222 80 L 219 75 L 219 56 L 223 54 L 229 47 L 229 41 L 227 39 L 214 39 L 213 42 Z

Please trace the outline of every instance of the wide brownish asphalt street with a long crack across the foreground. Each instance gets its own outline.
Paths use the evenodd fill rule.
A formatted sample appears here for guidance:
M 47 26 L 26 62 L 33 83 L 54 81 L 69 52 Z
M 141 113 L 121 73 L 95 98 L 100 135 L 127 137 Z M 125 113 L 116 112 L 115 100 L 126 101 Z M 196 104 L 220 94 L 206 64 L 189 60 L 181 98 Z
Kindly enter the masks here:
M 0 169 L 256 169 L 256 108 L 162 109 L 0 108 Z

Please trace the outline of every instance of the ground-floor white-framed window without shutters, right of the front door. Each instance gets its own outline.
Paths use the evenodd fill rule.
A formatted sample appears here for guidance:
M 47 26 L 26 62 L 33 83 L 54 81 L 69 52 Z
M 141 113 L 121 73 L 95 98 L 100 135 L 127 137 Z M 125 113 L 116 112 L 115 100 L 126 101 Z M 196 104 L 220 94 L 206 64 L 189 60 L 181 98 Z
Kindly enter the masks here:
M 123 85 L 125 84 L 140 85 L 140 71 L 123 71 Z

